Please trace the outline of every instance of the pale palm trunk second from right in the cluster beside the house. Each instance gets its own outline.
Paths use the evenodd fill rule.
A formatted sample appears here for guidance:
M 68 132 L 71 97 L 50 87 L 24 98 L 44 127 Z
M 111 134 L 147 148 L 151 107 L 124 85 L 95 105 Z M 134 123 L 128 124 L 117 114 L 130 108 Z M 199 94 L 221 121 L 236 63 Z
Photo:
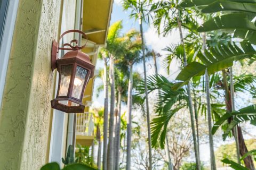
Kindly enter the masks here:
M 117 118 L 116 118 L 116 129 L 115 129 L 115 150 L 114 150 L 114 169 L 119 170 L 119 156 L 120 156 L 120 128 L 121 128 L 121 97 L 122 97 L 122 88 L 118 88 L 118 102 L 117 102 Z

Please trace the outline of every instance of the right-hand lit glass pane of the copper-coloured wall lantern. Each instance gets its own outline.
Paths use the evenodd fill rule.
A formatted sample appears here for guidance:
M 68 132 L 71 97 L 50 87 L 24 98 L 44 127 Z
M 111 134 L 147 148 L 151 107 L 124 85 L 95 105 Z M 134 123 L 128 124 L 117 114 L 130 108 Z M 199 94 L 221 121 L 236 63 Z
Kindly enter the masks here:
M 76 75 L 75 75 L 75 80 L 74 80 L 72 97 L 75 97 L 77 99 L 81 98 L 87 72 L 88 71 L 86 69 L 82 68 L 81 66 L 76 67 Z

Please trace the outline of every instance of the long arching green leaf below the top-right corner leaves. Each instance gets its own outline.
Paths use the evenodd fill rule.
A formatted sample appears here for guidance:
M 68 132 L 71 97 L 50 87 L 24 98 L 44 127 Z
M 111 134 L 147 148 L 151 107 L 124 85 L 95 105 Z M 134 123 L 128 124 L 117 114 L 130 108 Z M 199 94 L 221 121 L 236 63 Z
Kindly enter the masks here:
M 256 54 L 256 51 L 250 43 L 243 41 L 239 46 L 241 47 L 238 47 L 235 43 L 228 43 L 228 45 L 219 45 L 205 50 L 205 55 L 199 52 L 197 57 L 203 64 L 198 62 L 188 64 L 181 70 L 176 78 L 176 80 L 182 82 L 177 83 L 173 89 L 187 84 L 187 82 L 195 76 L 204 75 L 206 69 L 210 75 L 232 66 L 234 61 L 250 58 Z

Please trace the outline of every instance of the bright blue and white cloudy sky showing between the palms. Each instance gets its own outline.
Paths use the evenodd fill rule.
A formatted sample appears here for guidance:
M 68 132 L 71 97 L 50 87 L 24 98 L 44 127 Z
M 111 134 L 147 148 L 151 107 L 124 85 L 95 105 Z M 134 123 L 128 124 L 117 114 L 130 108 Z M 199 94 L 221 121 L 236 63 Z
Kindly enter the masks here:
M 111 20 L 110 20 L 110 25 L 113 24 L 116 21 L 122 20 L 123 21 L 123 30 L 122 33 L 125 33 L 129 31 L 132 28 L 135 28 L 139 30 L 139 24 L 137 21 L 134 19 L 130 19 L 130 11 L 123 11 L 122 7 L 122 0 L 114 0 L 113 4 L 113 12 L 111 14 Z M 163 51 L 162 49 L 165 48 L 166 46 L 169 45 L 175 45 L 180 42 L 180 35 L 178 30 L 172 31 L 171 35 L 166 35 L 165 37 L 158 35 L 156 30 L 154 29 L 153 25 L 149 24 L 143 25 L 143 29 L 145 30 L 144 37 L 146 41 L 146 45 L 154 49 L 157 53 L 160 53 L 163 57 L 157 58 L 157 63 L 158 63 L 158 72 L 159 74 L 164 75 L 166 78 L 169 80 L 174 80 L 175 77 L 179 73 L 178 69 L 178 64 L 174 61 L 171 64 L 171 70 L 170 70 L 170 75 L 166 73 L 166 70 L 161 66 L 162 60 L 164 56 L 166 55 L 166 52 Z M 96 69 L 100 69 L 103 67 L 102 61 L 98 60 L 97 61 L 97 66 Z M 135 71 L 138 71 L 139 73 L 143 73 L 143 66 L 142 64 L 135 66 Z M 153 68 L 153 62 L 148 62 L 147 63 L 147 74 L 154 74 L 154 68 Z M 94 96 L 93 96 L 93 106 L 94 107 L 103 107 L 103 92 L 100 92 L 99 97 L 95 95 L 96 88 L 102 84 L 102 81 L 97 78 L 95 79 L 95 85 L 94 85 Z M 126 106 L 122 106 L 122 113 L 126 111 Z M 230 142 L 230 141 L 229 141 Z M 215 145 L 218 147 L 224 142 L 215 142 Z M 228 142 L 225 142 L 228 143 Z M 216 149 L 216 148 L 215 148 Z M 201 150 L 201 160 L 203 162 L 209 162 L 210 160 L 210 151 L 209 151 L 209 144 L 203 144 L 200 146 Z

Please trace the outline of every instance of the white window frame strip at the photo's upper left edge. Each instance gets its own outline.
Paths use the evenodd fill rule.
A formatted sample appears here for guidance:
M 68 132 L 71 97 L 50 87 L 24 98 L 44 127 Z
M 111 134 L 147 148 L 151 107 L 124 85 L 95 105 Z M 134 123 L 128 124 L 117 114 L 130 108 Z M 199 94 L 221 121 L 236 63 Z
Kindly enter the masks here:
M 0 43 L 0 106 L 2 105 L 6 72 L 9 62 L 10 50 L 12 46 L 12 37 L 17 16 L 18 5 L 19 0 L 9 0 L 9 4 L 7 5 L 7 13 L 5 16 L 5 23 L 3 27 L 2 42 Z

